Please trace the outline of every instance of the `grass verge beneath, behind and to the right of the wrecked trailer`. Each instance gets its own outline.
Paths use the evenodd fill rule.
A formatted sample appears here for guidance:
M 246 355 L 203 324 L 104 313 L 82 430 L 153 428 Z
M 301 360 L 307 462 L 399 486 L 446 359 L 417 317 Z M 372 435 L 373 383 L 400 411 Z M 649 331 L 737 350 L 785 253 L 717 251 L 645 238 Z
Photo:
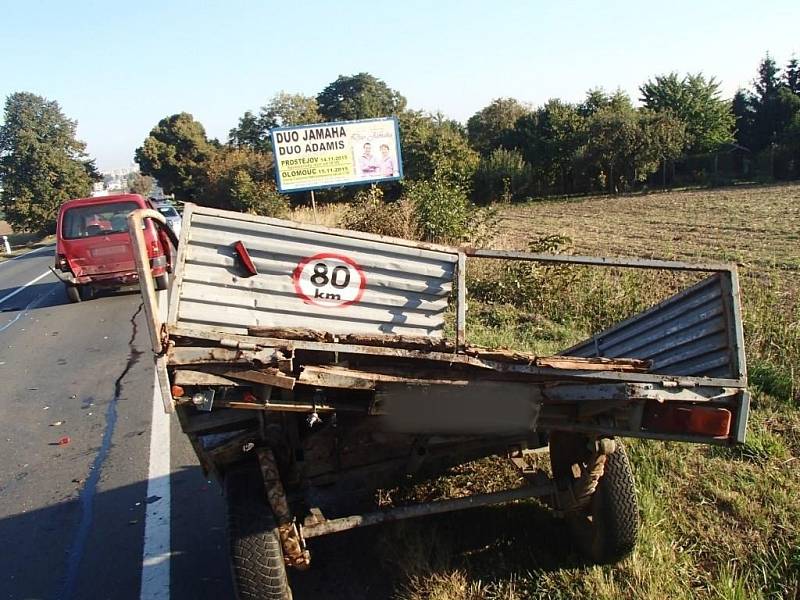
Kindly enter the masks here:
M 533 244 L 540 250 L 541 243 Z M 563 242 L 562 242 L 563 243 Z M 549 250 L 559 250 L 559 244 Z M 695 283 L 662 271 L 471 261 L 468 341 L 555 353 Z M 785 271 L 743 268 L 743 321 L 753 410 L 733 448 L 634 440 L 641 539 L 620 564 L 586 565 L 546 512 L 445 516 L 435 560 L 398 559 L 406 600 L 533 598 L 795 600 L 800 598 L 800 301 Z M 475 468 L 470 481 L 507 480 Z M 446 478 L 443 478 L 445 480 Z M 488 480 L 488 481 L 487 481 Z M 430 484 L 429 484 L 430 485 Z M 434 486 L 437 484 L 433 484 Z M 441 491 L 448 486 L 441 484 Z M 429 490 L 430 491 L 430 490 Z M 491 532 L 476 531 L 494 522 Z M 448 523 L 451 525 L 448 526 Z M 480 523 L 480 524 L 479 524 Z M 474 525 L 473 525 L 474 524 Z M 394 555 L 426 539 L 409 524 Z M 470 539 L 475 538 L 478 539 Z M 469 541 L 466 541 L 469 540 Z M 427 562 L 426 562 L 427 561 Z

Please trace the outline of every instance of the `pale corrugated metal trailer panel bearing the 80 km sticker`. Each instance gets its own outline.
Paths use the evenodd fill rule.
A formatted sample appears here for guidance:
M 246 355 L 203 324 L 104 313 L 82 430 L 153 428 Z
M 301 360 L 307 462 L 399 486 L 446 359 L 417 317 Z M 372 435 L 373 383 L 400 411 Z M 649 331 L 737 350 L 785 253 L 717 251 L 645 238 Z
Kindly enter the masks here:
M 184 226 L 176 324 L 231 333 L 258 325 L 442 336 L 455 252 L 201 207 Z M 257 275 L 244 276 L 238 241 Z M 314 269 L 324 285 L 310 283 Z

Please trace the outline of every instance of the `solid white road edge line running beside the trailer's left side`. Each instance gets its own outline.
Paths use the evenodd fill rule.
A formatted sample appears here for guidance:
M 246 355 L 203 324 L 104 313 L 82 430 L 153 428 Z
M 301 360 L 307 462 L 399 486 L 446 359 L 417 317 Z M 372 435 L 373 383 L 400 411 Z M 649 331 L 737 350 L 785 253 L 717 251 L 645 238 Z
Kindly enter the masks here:
M 161 292 L 159 313 L 166 320 L 167 296 Z M 150 472 L 147 477 L 147 512 L 142 550 L 141 600 L 169 600 L 170 593 L 170 422 L 154 374 L 150 424 Z M 156 500 L 158 498 L 158 500 Z

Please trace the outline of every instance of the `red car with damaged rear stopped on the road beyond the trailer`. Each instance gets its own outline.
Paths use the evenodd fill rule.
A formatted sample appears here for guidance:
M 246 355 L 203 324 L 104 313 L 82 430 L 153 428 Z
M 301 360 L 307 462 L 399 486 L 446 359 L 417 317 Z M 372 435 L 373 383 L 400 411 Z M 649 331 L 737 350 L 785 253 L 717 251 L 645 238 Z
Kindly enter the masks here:
M 90 297 L 98 288 L 138 282 L 127 220 L 137 208 L 152 206 L 138 194 L 78 198 L 61 205 L 55 268 L 63 273 L 60 278 L 72 302 Z M 166 289 L 172 258 L 169 239 L 150 220 L 144 237 L 156 289 Z

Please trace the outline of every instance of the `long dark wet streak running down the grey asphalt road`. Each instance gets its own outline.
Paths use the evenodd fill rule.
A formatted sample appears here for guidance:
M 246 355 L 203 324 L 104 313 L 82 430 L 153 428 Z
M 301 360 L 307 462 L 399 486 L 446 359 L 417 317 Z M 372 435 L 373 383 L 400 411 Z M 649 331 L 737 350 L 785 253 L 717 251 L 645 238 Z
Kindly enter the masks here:
M 103 431 L 103 440 L 100 444 L 100 450 L 97 452 L 92 466 L 89 467 L 89 476 L 86 478 L 86 483 L 81 489 L 78 499 L 81 504 L 81 520 L 78 524 L 78 530 L 72 540 L 69 550 L 69 563 L 67 566 L 67 576 L 64 580 L 64 585 L 61 588 L 61 593 L 58 595 L 60 600 L 70 600 L 75 593 L 75 586 L 78 582 L 78 571 L 80 569 L 81 561 L 83 560 L 83 553 L 86 549 L 86 540 L 89 538 L 89 531 L 91 530 L 92 520 L 94 517 L 94 497 L 97 493 L 97 484 L 100 481 L 100 472 L 103 463 L 108 457 L 111 449 L 111 438 L 114 435 L 114 429 L 117 424 L 117 402 L 120 399 L 123 391 L 122 380 L 131 370 L 131 368 L 139 362 L 139 358 L 143 354 L 141 350 L 136 350 L 133 343 L 136 339 L 137 325 L 136 317 L 142 312 L 144 304 L 139 304 L 139 308 L 133 313 L 130 319 L 131 322 L 131 337 L 128 340 L 128 361 L 122 373 L 119 374 L 114 381 L 114 397 L 108 404 L 106 409 L 106 428 Z

